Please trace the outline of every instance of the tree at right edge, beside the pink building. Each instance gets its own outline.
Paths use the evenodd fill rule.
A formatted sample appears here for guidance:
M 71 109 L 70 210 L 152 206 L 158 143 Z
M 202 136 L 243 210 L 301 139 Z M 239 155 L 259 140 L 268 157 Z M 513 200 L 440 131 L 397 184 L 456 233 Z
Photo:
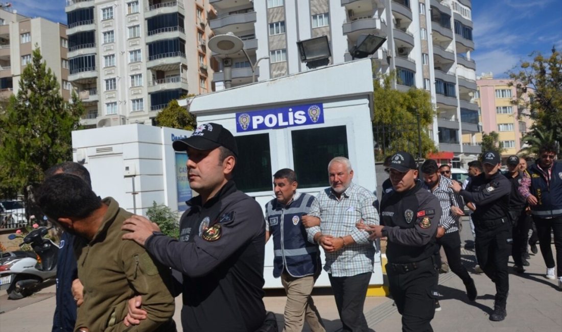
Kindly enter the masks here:
M 550 57 L 540 52 L 530 54 L 533 61 L 521 61 L 518 72 L 510 72 L 510 85 L 516 89 L 512 103 L 518 116 L 527 115 L 534 124 L 531 134 L 552 133 L 552 142 L 562 143 L 562 55 L 552 47 Z M 550 134 L 548 134 L 550 135 Z M 544 137 L 543 137 L 544 138 Z

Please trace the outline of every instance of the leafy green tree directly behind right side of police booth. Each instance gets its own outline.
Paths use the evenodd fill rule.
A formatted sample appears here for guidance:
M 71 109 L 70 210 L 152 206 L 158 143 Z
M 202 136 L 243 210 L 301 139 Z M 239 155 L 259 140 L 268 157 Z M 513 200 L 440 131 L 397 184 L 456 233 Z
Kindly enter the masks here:
M 393 89 L 395 80 L 395 71 L 388 75 L 379 74 L 373 80 L 375 158 L 382 160 L 396 151 L 418 156 L 420 140 L 422 157 L 425 157 L 436 151 L 428 133 L 436 115 L 431 97 L 422 89 L 411 88 L 407 92 Z

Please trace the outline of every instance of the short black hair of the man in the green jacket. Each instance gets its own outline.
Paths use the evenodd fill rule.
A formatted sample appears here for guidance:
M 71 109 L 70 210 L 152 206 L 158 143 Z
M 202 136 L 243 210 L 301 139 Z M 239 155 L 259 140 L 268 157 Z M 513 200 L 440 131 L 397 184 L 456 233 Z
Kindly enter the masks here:
M 49 218 L 83 219 L 102 205 L 101 198 L 74 174 L 55 174 L 35 192 L 35 202 Z

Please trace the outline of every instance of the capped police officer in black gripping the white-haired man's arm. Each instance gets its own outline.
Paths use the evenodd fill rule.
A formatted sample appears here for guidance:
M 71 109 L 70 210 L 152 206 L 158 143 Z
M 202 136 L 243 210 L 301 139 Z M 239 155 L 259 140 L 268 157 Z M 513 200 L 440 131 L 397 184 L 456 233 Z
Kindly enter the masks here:
M 438 199 L 416 181 L 418 170 L 407 152 L 392 156 L 394 190 L 380 202 L 380 226 L 357 224 L 371 238 L 387 237 L 389 288 L 402 315 L 402 331 L 433 331 L 439 258 L 435 235 L 441 218 Z

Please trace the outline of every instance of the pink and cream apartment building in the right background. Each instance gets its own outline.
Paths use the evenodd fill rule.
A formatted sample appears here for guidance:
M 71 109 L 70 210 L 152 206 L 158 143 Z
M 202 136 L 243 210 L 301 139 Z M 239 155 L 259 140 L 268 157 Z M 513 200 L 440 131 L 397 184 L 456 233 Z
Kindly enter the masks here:
M 505 148 L 502 157 L 516 154 L 522 147 L 523 137 L 531 130 L 532 120 L 524 114 L 524 110 L 511 101 L 516 97 L 515 87 L 510 87 L 509 79 L 493 79 L 493 74 L 482 74 L 476 81 L 478 86 L 475 99 L 480 108 L 482 132 L 496 131 L 499 141 Z M 482 134 L 474 137 L 463 135 L 463 143 L 482 143 Z

